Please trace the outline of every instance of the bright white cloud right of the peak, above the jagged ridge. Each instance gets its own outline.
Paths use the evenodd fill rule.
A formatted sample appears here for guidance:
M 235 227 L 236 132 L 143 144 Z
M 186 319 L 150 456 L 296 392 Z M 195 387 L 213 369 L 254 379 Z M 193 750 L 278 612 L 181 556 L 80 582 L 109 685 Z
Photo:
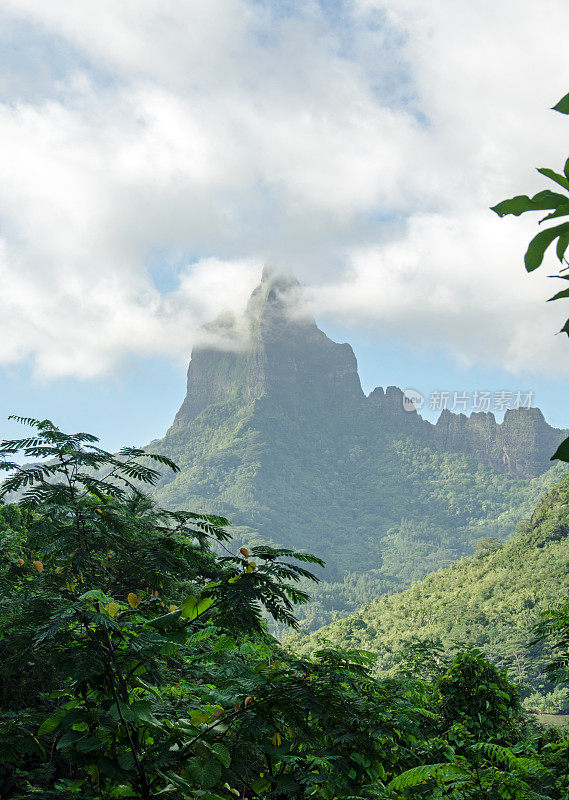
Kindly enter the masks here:
M 520 280 L 511 258 L 519 235 L 515 222 L 483 210 L 463 218 L 418 213 L 399 238 L 353 253 L 337 283 L 313 286 L 312 304 L 347 325 L 441 347 L 465 366 L 559 375 L 567 343 L 553 334 L 562 311 L 539 301 L 553 293 L 547 275 Z

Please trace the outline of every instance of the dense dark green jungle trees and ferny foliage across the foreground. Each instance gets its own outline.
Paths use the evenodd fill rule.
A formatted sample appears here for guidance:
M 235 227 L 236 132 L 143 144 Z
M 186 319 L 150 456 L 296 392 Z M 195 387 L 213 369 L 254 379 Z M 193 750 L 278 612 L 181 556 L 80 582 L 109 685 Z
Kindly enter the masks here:
M 226 520 L 135 488 L 151 455 L 25 421 L 1 448 L 2 800 L 568 796 L 569 740 L 483 653 L 411 647 L 384 679 L 361 650 L 290 653 L 262 611 L 294 627 L 316 557 L 233 552 Z M 552 682 L 568 630 L 566 606 L 541 622 Z

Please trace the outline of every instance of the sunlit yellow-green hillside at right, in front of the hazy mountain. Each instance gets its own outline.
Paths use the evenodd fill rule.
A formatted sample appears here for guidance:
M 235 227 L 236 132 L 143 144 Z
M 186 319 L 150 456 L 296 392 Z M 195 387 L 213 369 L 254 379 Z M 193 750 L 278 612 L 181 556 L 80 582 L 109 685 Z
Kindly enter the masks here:
M 530 647 L 540 611 L 569 594 L 569 477 L 550 490 L 531 519 L 504 544 L 481 543 L 475 555 L 428 575 L 398 594 L 384 595 L 357 613 L 288 644 L 303 653 L 328 639 L 372 650 L 378 671 L 389 672 L 403 645 L 419 639 L 481 648 L 529 690 L 543 692 L 547 658 Z

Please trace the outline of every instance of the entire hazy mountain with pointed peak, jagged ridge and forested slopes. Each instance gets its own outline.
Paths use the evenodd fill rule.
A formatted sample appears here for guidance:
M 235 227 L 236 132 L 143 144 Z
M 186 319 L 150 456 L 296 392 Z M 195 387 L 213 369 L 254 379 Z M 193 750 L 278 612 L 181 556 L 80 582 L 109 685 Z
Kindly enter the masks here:
M 362 392 L 348 344 L 299 313 L 295 281 L 265 274 L 234 343 L 194 350 L 188 393 L 155 451 L 182 468 L 157 500 L 215 511 L 240 542 L 324 558 L 312 627 L 503 539 L 559 479 L 562 432 L 538 409 L 446 413 L 434 426 L 402 392 Z M 227 320 L 224 333 L 231 333 Z M 243 338 L 242 332 L 247 336 Z

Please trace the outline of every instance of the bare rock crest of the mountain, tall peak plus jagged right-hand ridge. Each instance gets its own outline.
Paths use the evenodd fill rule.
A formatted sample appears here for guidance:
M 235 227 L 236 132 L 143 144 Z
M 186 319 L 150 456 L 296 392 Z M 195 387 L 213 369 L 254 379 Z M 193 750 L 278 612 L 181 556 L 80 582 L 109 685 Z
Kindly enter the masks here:
M 245 312 L 246 343 L 235 350 L 196 348 L 192 353 L 186 398 L 173 428 L 230 399 L 251 403 L 272 397 L 297 411 L 317 405 L 329 413 L 367 403 L 386 430 L 418 437 L 442 452 L 473 454 L 493 470 L 531 478 L 551 466 L 564 431 L 548 425 L 537 408 L 508 410 L 502 423 L 490 412 L 467 417 L 444 410 L 432 425 L 404 408 L 403 391 L 396 386 L 377 387 L 366 398 L 350 345 L 329 339 L 312 317 L 297 313 L 301 306 L 298 281 L 265 269 Z

